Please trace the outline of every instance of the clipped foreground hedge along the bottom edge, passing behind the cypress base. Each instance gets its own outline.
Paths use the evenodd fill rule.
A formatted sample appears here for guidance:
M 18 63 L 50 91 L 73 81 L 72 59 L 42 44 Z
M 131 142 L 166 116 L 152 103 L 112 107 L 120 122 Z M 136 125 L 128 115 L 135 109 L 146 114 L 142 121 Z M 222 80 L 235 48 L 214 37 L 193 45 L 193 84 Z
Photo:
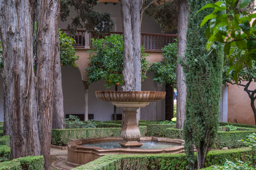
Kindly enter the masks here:
M 250 148 L 210 151 L 205 160 L 205 166 L 223 165 L 226 159 L 248 161 L 246 155 L 252 152 Z M 195 153 L 196 154 L 196 153 Z M 196 163 L 197 164 L 197 163 Z M 74 168 L 74 170 L 115 170 L 115 169 L 170 169 L 185 170 L 187 165 L 185 154 L 145 154 L 145 155 L 105 155 L 92 162 Z

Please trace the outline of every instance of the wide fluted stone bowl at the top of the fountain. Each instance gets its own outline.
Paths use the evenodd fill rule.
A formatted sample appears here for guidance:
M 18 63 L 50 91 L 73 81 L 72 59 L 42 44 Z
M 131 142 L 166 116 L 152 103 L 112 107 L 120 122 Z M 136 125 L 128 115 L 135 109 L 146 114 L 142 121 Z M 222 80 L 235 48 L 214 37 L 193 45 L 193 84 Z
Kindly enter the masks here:
M 158 102 L 165 98 L 165 91 L 95 91 L 101 101 Z

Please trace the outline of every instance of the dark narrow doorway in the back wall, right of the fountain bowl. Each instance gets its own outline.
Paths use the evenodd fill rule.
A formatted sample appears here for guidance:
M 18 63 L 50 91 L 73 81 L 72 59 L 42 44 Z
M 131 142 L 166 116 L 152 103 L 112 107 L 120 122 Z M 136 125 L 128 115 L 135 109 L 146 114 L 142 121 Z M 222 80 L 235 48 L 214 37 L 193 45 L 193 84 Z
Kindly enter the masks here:
M 166 84 L 165 91 L 165 120 L 172 120 L 174 118 L 174 88 Z

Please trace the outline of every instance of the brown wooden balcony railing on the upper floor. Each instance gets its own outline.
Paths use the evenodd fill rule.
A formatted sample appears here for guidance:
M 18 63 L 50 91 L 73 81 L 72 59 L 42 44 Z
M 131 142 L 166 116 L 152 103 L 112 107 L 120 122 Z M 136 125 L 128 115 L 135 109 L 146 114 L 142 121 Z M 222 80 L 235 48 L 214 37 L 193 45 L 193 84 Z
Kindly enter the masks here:
M 76 43 L 73 45 L 75 48 L 91 48 L 91 38 L 95 37 L 92 33 L 84 30 L 77 30 L 76 35 L 69 35 L 67 30 L 61 29 L 63 33 L 72 37 Z M 122 32 L 110 32 L 110 34 L 122 35 Z M 108 36 L 110 34 L 105 34 Z M 144 46 L 145 51 L 161 52 L 162 47 L 168 43 L 173 43 L 177 38 L 176 34 L 154 34 L 154 33 L 141 33 L 141 45 Z

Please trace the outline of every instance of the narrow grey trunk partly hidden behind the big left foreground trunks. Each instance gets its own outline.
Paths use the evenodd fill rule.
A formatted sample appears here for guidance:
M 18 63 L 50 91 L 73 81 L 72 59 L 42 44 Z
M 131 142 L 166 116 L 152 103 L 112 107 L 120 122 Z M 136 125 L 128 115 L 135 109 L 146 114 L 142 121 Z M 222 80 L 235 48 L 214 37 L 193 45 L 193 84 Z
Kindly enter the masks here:
M 60 64 L 60 48 L 59 38 L 57 54 L 55 59 L 55 83 L 54 83 L 54 99 L 52 112 L 52 129 L 65 129 L 64 124 L 64 109 L 63 109 L 63 92 L 61 84 L 61 64 Z

